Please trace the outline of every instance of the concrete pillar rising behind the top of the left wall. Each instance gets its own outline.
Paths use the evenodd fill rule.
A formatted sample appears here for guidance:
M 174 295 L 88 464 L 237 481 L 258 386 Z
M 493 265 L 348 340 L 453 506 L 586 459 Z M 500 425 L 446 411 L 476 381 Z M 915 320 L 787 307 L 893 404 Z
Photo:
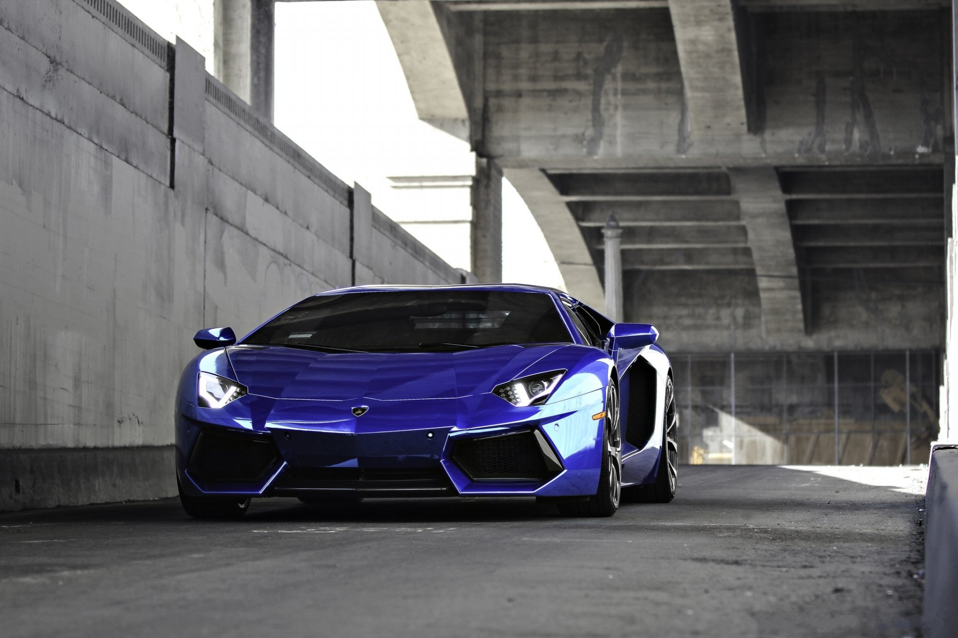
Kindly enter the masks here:
M 217 77 L 273 120 L 275 0 L 217 0 Z

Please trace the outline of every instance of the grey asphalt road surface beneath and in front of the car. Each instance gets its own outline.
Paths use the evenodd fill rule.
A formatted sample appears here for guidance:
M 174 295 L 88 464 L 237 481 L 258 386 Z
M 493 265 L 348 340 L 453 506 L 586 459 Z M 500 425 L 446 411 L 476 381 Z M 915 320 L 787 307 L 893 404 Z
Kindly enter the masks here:
M 0 636 L 916 636 L 924 467 L 680 468 L 667 505 L 0 515 Z

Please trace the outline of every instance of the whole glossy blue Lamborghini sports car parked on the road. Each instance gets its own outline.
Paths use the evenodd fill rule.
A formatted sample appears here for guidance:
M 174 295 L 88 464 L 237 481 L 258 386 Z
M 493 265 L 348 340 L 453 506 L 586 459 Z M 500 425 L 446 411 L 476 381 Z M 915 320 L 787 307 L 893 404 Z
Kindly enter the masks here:
M 200 330 L 176 397 L 183 508 L 536 496 L 608 517 L 622 499 L 669 502 L 678 420 L 657 337 L 514 284 L 345 288 L 239 341 Z

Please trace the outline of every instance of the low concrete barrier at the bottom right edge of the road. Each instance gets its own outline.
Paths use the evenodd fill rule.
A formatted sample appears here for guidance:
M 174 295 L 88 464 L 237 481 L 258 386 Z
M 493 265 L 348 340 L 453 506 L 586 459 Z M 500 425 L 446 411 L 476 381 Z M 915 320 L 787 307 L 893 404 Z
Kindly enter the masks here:
M 924 635 L 958 636 L 958 445 L 931 451 L 925 496 Z

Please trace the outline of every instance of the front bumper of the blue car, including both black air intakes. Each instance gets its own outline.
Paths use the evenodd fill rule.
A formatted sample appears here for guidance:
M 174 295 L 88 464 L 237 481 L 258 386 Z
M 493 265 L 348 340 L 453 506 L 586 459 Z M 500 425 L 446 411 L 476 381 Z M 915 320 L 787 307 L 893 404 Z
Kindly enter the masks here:
M 210 409 L 179 398 L 177 476 L 188 495 L 595 494 L 603 391 L 514 409 L 468 399 L 365 400 L 369 415 L 354 417 L 355 402 L 247 395 Z

